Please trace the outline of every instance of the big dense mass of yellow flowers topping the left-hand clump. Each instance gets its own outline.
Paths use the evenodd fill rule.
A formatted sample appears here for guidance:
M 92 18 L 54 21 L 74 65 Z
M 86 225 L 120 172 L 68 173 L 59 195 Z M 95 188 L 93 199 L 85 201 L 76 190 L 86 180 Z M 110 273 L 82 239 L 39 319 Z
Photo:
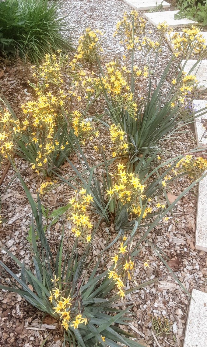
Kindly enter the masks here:
M 21 106 L 25 119 L 21 122 L 21 130 L 28 137 L 26 147 L 34 154 L 32 168 L 37 172 L 53 166 L 53 156 L 59 149 L 65 150 L 70 144 L 57 141 L 57 127 L 64 124 L 64 118 L 58 108 L 64 106 L 66 95 L 60 91 L 60 97 L 50 92 L 40 94 L 37 100 L 28 101 Z M 59 110 L 60 111 L 60 110 Z M 59 147 L 60 145 L 60 147 Z M 35 155 L 36 153 L 36 155 Z

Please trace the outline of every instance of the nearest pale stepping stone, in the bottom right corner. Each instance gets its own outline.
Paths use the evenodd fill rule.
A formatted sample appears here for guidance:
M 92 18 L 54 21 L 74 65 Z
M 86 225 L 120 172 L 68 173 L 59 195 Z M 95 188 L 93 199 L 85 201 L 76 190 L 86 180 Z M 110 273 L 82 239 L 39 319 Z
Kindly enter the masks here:
M 183 347 L 207 346 L 207 293 L 193 289 Z

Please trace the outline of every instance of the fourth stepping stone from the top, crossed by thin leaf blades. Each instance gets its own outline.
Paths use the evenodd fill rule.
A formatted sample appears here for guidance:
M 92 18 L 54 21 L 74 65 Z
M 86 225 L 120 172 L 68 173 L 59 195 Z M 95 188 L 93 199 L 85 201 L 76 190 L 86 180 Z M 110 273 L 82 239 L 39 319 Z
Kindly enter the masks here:
M 183 60 L 180 64 L 181 67 L 185 64 L 186 60 Z M 184 67 L 184 71 L 188 74 L 190 69 L 194 66 L 197 60 L 189 59 L 187 61 L 186 66 Z M 196 75 L 198 80 L 198 89 L 202 90 L 207 88 L 207 60 L 201 60 L 199 64 L 191 71 L 190 74 Z

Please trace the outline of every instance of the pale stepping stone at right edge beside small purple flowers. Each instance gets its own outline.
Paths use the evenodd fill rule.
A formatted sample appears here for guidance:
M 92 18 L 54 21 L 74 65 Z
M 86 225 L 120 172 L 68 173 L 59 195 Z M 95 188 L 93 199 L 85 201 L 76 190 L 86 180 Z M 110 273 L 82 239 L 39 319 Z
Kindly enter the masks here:
M 194 111 L 196 110 L 199 111 L 201 109 L 204 109 L 207 107 L 207 100 L 193 100 L 192 107 Z M 203 115 L 195 119 L 195 133 L 196 133 L 197 146 L 207 145 L 207 138 L 202 137 L 204 134 L 205 128 L 203 127 L 203 124 L 201 123 L 201 118 L 207 119 L 207 110 L 205 112 L 206 112 L 205 114 L 203 114 L 204 111 L 199 112 L 199 113 L 202 113 Z M 197 113 L 196 116 L 199 113 Z

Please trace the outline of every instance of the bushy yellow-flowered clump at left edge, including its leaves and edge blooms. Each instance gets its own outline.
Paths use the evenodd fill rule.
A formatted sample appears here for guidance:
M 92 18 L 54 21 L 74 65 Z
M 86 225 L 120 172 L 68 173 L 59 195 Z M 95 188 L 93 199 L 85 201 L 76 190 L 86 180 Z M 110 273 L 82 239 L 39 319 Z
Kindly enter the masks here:
M 72 150 L 66 135 L 68 125 L 59 109 L 60 103 L 64 105 L 64 98 L 64 93 L 59 98 L 39 95 L 38 99 L 22 104 L 24 118 L 21 121 L 7 104 L 8 109 L 2 110 L 0 115 L 1 122 L 9 117 L 9 131 L 5 132 L 6 122 L 0 135 L 4 156 L 9 156 L 14 164 L 14 154 L 18 153 L 37 173 L 53 175 L 51 170 L 57 170 Z

